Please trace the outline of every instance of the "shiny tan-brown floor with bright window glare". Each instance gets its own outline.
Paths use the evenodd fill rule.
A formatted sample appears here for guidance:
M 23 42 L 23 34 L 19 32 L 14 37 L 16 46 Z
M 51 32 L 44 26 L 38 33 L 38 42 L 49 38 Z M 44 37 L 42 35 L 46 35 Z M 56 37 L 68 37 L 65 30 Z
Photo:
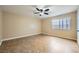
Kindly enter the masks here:
M 79 52 L 77 43 L 46 35 L 35 35 L 26 38 L 4 41 L 0 52 L 8 53 L 62 53 Z

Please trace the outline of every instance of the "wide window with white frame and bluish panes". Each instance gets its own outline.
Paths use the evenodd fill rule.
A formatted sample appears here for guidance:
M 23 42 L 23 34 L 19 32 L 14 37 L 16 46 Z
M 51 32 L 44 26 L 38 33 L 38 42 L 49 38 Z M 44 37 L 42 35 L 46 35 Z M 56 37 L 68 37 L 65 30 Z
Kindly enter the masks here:
M 58 30 L 69 30 L 70 29 L 70 17 L 64 17 L 61 19 L 52 20 L 52 28 Z

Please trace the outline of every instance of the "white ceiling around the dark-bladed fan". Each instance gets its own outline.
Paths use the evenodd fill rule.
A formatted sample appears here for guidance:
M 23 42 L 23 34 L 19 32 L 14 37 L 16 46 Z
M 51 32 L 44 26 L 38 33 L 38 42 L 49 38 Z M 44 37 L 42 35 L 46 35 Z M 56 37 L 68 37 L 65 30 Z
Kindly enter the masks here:
M 0 6 L 0 8 L 3 11 L 10 12 L 10 13 L 20 14 L 20 15 L 24 15 L 24 16 L 26 16 L 26 15 L 35 16 L 33 14 L 33 10 L 35 7 L 32 5 L 3 5 L 3 6 Z M 75 6 L 74 5 L 57 5 L 57 6 L 50 5 L 46 8 L 51 8 L 50 15 L 48 15 L 48 16 L 43 15 L 43 16 L 41 16 L 42 18 L 57 16 L 57 15 L 69 13 L 72 11 L 76 11 L 78 6 L 76 6 L 76 5 Z M 38 15 L 36 15 L 36 16 L 40 17 Z

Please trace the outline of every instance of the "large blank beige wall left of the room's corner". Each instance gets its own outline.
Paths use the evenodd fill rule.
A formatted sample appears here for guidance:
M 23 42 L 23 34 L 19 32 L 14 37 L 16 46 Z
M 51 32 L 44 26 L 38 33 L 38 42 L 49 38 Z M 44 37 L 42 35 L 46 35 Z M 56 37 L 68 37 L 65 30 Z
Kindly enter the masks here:
M 41 33 L 41 20 L 3 12 L 3 38 L 29 36 Z

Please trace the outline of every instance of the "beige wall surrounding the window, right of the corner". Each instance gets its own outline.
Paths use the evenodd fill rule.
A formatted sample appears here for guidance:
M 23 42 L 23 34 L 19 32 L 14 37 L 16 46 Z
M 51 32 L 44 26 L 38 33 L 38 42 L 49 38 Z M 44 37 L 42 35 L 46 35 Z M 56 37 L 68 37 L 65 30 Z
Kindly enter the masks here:
M 65 16 L 71 16 L 71 30 L 66 31 L 66 30 L 53 30 L 51 26 L 51 21 L 52 19 L 59 19 L 63 18 Z M 52 36 L 58 36 L 62 38 L 69 38 L 69 39 L 74 39 L 76 40 L 76 12 L 68 13 L 68 14 L 63 14 L 60 16 L 55 16 L 52 18 L 47 18 L 43 19 L 42 21 L 42 32 L 43 34 L 48 34 Z

